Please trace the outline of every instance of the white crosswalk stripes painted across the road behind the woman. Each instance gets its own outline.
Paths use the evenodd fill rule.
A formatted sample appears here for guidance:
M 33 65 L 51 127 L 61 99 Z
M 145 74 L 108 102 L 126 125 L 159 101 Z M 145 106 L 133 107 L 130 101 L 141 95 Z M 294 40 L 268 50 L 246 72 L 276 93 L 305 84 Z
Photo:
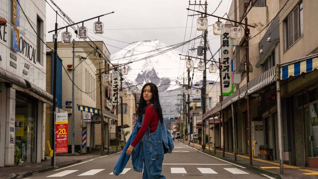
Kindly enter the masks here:
M 59 173 L 53 174 L 53 175 L 49 175 L 47 177 L 63 177 L 66 175 L 70 175 L 72 173 L 76 173 L 77 176 L 89 176 L 89 175 L 95 175 L 97 173 L 100 173 L 102 171 L 104 171 L 105 169 L 92 169 L 89 171 L 85 171 L 84 173 L 80 173 L 79 174 L 79 170 L 64 170 L 61 171 Z M 240 170 L 239 168 L 218 168 L 218 169 L 212 169 L 212 168 L 197 168 L 198 172 L 202 173 L 202 174 L 218 174 L 219 173 L 227 173 L 227 174 L 249 174 L 243 170 Z M 218 170 L 215 171 L 215 170 Z M 131 170 L 131 168 L 124 168 L 123 172 L 121 173 L 121 175 L 127 174 L 132 172 L 133 170 Z M 165 170 L 162 171 L 162 173 L 164 173 Z M 187 171 L 185 168 L 170 168 L 170 173 L 171 174 L 187 174 Z M 113 172 L 111 172 L 108 175 L 114 175 Z

